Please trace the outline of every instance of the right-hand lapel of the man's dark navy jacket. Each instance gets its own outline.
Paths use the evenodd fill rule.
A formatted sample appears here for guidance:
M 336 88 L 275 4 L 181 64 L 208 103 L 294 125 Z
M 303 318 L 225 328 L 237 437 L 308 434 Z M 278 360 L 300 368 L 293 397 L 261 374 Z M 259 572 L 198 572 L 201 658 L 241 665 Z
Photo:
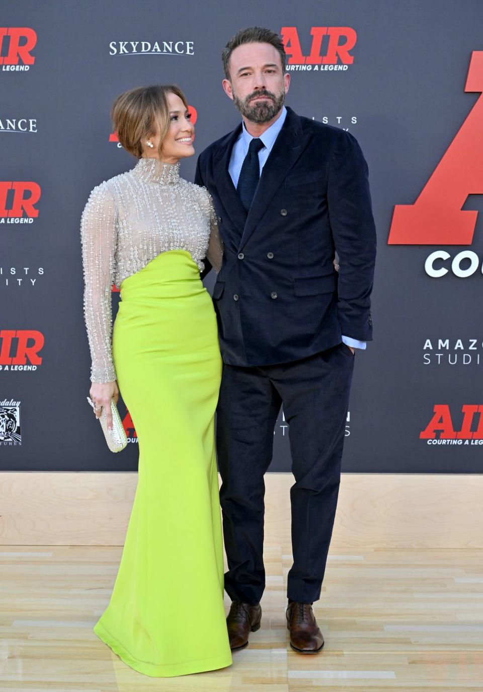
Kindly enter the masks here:
M 256 230 L 258 223 L 270 206 L 276 190 L 283 183 L 290 168 L 305 148 L 307 136 L 303 136 L 299 116 L 290 108 L 287 108 L 287 111 L 287 118 L 275 140 L 272 152 L 270 152 L 267 162 L 263 166 L 260 182 L 256 188 L 252 206 L 247 215 L 245 229 L 243 230 L 238 250 L 246 244 L 249 237 Z M 238 197 L 236 190 L 235 194 Z

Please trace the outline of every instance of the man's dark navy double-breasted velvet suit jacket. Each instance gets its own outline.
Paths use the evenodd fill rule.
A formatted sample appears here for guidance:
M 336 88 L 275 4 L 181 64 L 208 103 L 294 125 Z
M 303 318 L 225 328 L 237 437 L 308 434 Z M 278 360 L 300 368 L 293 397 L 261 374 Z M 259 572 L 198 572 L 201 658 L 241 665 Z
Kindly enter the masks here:
M 213 197 L 225 246 L 213 293 L 223 360 L 289 363 L 341 334 L 372 339 L 376 234 L 357 140 L 287 108 L 247 214 L 228 172 L 241 127 L 200 154 L 195 179 Z

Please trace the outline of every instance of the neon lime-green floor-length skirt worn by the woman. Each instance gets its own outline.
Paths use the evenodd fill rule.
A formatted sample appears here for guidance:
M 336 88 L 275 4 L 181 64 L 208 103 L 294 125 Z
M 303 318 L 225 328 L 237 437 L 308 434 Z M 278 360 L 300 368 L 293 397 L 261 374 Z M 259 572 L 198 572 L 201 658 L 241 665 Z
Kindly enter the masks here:
M 198 266 L 163 252 L 123 280 L 113 331 L 120 392 L 139 439 L 138 488 L 119 572 L 95 633 L 136 671 L 231 664 L 214 413 L 221 358 Z

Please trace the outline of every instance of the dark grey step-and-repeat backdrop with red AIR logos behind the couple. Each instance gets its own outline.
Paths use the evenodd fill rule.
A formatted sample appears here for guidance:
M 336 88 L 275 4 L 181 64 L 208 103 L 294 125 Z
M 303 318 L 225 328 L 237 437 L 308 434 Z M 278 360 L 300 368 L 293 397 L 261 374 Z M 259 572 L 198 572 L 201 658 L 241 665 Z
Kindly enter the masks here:
M 283 36 L 287 104 L 348 129 L 369 164 L 375 340 L 356 355 L 344 470 L 482 472 L 480 0 L 2 3 L 2 470 L 137 468 L 122 401 L 129 445 L 117 455 L 86 402 L 79 219 L 90 190 L 135 163 L 109 118 L 122 91 L 179 84 L 197 153 L 236 127 L 220 53 L 253 25 Z M 118 300 L 114 289 L 114 311 Z M 290 465 L 281 414 L 271 470 Z

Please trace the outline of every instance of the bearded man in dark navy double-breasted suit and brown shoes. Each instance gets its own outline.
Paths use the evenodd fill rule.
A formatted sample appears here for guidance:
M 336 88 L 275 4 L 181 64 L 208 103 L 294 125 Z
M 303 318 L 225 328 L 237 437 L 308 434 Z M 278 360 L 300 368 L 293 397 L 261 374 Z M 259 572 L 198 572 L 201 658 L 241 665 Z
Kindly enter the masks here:
M 354 348 L 372 338 L 368 169 L 350 134 L 283 106 L 290 75 L 276 33 L 241 30 L 222 60 L 243 124 L 202 152 L 196 183 L 214 199 L 225 245 L 213 298 L 229 639 L 243 648 L 261 623 L 263 475 L 283 404 L 296 481 L 287 627 L 294 650 L 316 653 L 312 603 L 334 523 Z

